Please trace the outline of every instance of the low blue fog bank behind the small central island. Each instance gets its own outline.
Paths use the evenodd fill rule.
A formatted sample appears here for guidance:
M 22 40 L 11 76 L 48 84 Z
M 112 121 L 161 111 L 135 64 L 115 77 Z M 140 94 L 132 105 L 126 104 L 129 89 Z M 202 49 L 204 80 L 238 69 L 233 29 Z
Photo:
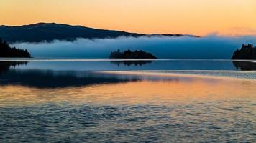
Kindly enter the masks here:
M 110 52 L 116 49 L 141 49 L 163 59 L 230 59 L 233 51 L 247 43 L 256 44 L 256 36 L 121 36 L 116 39 L 16 43 L 12 46 L 27 49 L 33 57 L 109 58 Z

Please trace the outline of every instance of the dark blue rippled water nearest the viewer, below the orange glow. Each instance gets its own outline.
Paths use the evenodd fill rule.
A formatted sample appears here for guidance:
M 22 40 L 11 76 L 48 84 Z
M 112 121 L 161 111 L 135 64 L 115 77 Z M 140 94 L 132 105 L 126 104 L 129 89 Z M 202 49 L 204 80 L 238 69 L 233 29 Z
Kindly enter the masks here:
M 0 139 L 4 142 L 255 142 L 255 114 L 252 109 L 243 109 L 244 104 L 250 108 L 255 103 L 232 103 L 225 107 L 227 102 L 1 108 Z

